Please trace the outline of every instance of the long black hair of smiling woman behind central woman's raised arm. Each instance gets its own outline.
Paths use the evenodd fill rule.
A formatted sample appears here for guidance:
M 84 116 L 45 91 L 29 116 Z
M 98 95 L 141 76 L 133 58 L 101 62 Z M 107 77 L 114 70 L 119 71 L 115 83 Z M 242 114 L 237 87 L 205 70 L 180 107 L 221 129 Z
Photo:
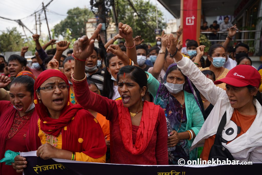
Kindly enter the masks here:
M 106 56 L 106 67 L 109 67 L 110 64 L 110 60 L 112 57 L 114 57 L 116 55 L 110 53 Z M 114 85 L 113 85 L 114 81 L 111 79 L 111 75 L 110 73 L 107 71 L 107 69 L 105 70 L 105 74 L 104 74 L 104 83 L 103 83 L 103 96 L 107 97 L 108 99 L 112 99 L 113 95 L 114 95 Z M 114 99 L 113 99 L 114 100 Z

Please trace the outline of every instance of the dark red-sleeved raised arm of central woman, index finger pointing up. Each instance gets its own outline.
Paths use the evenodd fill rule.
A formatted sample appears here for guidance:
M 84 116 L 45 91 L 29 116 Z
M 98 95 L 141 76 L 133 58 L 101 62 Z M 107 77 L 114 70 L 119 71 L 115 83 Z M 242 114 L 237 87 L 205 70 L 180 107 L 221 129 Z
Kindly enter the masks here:
M 97 26 L 90 39 L 85 35 L 75 41 L 72 54 L 75 58 L 75 67 L 72 79 L 77 102 L 85 109 L 94 110 L 110 120 L 118 115 L 116 102 L 91 92 L 85 74 L 85 60 L 93 53 L 94 41 L 101 27 L 101 24 Z

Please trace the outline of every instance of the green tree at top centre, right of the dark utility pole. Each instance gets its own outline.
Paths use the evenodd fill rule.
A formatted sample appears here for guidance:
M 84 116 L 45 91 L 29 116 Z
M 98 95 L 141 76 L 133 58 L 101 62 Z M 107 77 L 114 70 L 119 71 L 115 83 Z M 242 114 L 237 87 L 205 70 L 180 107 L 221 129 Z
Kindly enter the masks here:
M 156 6 L 149 1 L 131 0 L 137 13 L 125 0 L 118 0 L 116 8 L 118 12 L 118 22 L 128 24 L 133 29 L 133 37 L 141 35 L 145 42 L 155 42 L 156 34 Z M 158 28 L 165 28 L 163 13 L 158 10 Z

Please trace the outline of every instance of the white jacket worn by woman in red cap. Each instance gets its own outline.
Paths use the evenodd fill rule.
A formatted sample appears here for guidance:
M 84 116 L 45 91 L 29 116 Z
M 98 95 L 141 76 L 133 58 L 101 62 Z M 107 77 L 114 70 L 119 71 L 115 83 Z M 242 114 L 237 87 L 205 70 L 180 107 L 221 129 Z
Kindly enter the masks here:
M 227 122 L 230 122 L 234 108 L 231 107 L 226 91 L 216 87 L 215 84 L 199 70 L 191 61 L 183 57 L 177 62 L 185 76 L 194 83 L 199 92 L 214 105 L 211 113 L 195 137 L 190 150 L 204 146 L 205 139 L 216 134 L 218 125 L 226 111 Z M 229 144 L 224 145 L 232 154 L 235 160 L 262 162 L 262 107 L 258 100 L 253 101 L 257 114 L 254 122 L 246 133 L 237 137 Z

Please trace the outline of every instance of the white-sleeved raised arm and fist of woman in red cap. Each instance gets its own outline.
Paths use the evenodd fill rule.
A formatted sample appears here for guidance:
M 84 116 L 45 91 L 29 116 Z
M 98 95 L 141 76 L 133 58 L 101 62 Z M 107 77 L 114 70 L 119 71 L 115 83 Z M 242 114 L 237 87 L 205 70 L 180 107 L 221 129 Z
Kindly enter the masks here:
M 171 55 L 176 52 L 177 38 L 172 34 L 164 41 L 167 44 L 167 50 Z M 222 88 L 216 87 L 212 80 L 206 76 L 195 66 L 193 61 L 185 58 L 179 52 L 174 55 L 175 62 L 182 73 L 187 76 L 199 90 L 199 92 L 209 101 L 215 105 L 221 93 L 225 93 Z

